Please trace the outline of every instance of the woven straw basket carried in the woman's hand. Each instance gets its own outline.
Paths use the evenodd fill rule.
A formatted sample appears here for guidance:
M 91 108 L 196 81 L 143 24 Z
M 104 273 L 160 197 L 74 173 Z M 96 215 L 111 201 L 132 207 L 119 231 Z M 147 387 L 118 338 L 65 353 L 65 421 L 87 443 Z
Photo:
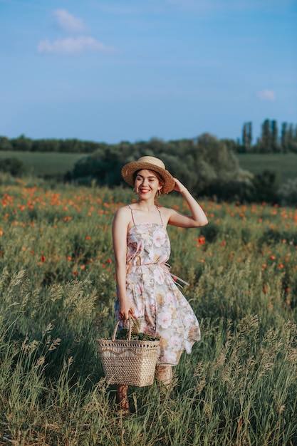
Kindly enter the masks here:
M 131 320 L 128 339 L 115 339 L 118 325 L 119 322 L 115 326 L 112 340 L 97 340 L 104 374 L 108 383 L 136 385 L 137 387 L 152 385 L 160 342 L 131 340 Z

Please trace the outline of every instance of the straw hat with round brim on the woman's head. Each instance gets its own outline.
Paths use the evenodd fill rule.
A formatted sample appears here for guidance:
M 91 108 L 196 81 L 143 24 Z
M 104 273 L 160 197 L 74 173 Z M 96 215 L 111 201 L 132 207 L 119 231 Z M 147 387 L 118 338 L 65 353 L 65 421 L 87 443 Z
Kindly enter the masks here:
M 157 172 L 164 180 L 162 193 L 167 194 L 174 189 L 175 180 L 166 170 L 164 162 L 155 157 L 141 157 L 137 161 L 128 162 L 122 169 L 122 177 L 128 185 L 134 187 L 133 175 L 137 170 L 148 169 Z

